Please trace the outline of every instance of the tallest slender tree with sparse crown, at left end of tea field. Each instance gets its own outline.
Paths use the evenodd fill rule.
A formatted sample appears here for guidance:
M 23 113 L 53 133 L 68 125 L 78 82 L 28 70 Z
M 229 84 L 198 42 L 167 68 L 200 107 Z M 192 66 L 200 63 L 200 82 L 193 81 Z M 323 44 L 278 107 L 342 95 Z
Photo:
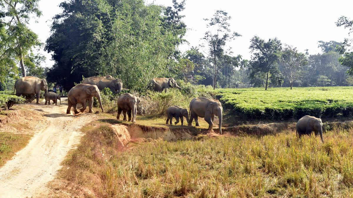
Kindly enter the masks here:
M 209 21 L 206 27 L 209 29 L 205 32 L 204 40 L 208 42 L 209 56 L 213 61 L 213 89 L 216 88 L 217 73 L 219 66 L 217 66 L 217 59 L 220 59 L 226 54 L 224 47 L 228 41 L 235 39 L 235 37 L 241 36 L 237 32 L 232 32 L 230 29 L 229 20 L 231 16 L 222 10 L 217 10 L 211 19 L 204 19 Z

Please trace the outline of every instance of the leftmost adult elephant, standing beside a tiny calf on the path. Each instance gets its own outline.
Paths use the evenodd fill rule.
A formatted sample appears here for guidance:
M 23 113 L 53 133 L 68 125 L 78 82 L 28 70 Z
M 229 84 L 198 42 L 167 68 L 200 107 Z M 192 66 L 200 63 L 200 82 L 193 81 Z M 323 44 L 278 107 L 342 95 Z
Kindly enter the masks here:
M 46 79 L 40 79 L 33 76 L 22 77 L 15 82 L 14 90 L 16 90 L 16 95 L 26 95 L 30 94 L 30 101 L 37 99 L 37 104 L 39 104 L 39 97 L 41 95 L 41 90 L 48 93 L 48 83 Z M 36 97 L 34 97 L 36 95 Z

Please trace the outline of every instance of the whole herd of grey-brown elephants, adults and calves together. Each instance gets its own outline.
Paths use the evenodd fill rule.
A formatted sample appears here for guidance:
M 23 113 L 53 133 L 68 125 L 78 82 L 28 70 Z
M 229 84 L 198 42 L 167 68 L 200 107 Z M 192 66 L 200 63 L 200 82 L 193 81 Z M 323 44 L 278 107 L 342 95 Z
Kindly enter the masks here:
M 111 75 L 92 76 L 84 79 L 81 84 L 72 87 L 68 92 L 68 107 L 66 113 L 69 114 L 71 107 L 73 107 L 74 113 L 77 114 L 78 111 L 76 105 L 78 103 L 82 105 L 82 109 L 80 109 L 80 111 L 84 112 L 86 109 L 86 101 L 88 101 L 89 112 L 92 113 L 93 97 L 98 99 L 102 112 L 104 112 L 100 90 L 103 90 L 106 87 L 113 93 L 120 93 L 122 90 L 122 81 L 120 79 L 114 79 Z M 154 78 L 149 84 L 149 89 L 157 92 L 162 92 L 164 89 L 168 88 L 181 89 L 174 78 Z M 48 93 L 48 84 L 46 79 L 25 76 L 18 79 L 14 84 L 14 91 L 16 91 L 16 95 L 26 96 L 26 99 L 29 102 L 36 99 L 37 104 L 39 104 L 41 90 L 45 93 L 45 104 L 48 102 L 50 104 L 50 100 L 53 100 L 53 103 L 56 105 L 57 100 L 60 100 L 59 94 L 56 94 L 55 92 Z M 135 123 L 137 104 L 139 102 L 139 98 L 130 93 L 121 94 L 117 100 L 118 115 L 116 118 L 119 120 L 121 113 L 123 113 L 123 120 L 128 120 Z M 197 97 L 191 100 L 189 109 L 190 111 L 188 113 L 187 109 L 183 109 L 180 106 L 168 107 L 166 111 L 166 124 L 168 124 L 168 122 L 169 124 L 172 124 L 173 118 L 176 119 L 174 124 L 178 124 L 180 118 L 181 125 L 183 125 L 185 117 L 189 126 L 191 126 L 193 119 L 195 119 L 196 126 L 199 126 L 198 117 L 201 117 L 204 118 L 209 124 L 208 130 L 212 131 L 214 117 L 217 116 L 219 118 L 219 131 L 222 134 L 222 105 L 219 101 L 214 101 L 204 97 Z M 128 119 L 126 118 L 126 113 L 128 115 Z M 302 135 L 309 135 L 312 131 L 314 131 L 315 135 L 320 135 L 323 142 L 322 120 L 319 118 L 313 116 L 304 116 L 300 118 L 296 125 L 296 131 L 299 134 L 299 137 Z

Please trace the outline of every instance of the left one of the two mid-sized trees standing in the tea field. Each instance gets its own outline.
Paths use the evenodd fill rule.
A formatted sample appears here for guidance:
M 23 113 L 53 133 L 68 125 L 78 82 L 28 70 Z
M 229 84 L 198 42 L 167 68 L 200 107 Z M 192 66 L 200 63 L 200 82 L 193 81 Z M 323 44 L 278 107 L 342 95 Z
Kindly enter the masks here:
M 277 38 L 269 39 L 265 42 L 264 39 L 254 36 L 250 41 L 249 49 L 253 53 L 251 56 L 250 66 L 251 74 L 262 72 L 266 74 L 266 85 L 265 90 L 267 90 L 268 79 L 270 73 L 278 73 L 277 63 L 279 61 L 280 52 L 282 50 L 281 41 Z

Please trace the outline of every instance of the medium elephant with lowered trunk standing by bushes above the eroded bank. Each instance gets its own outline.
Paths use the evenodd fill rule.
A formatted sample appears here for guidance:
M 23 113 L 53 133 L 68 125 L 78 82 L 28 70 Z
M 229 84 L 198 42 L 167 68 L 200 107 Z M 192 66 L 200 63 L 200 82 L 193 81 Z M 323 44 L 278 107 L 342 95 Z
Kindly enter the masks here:
M 124 116 L 123 120 L 131 121 L 136 123 L 136 113 L 137 113 L 137 104 L 140 103 L 140 98 L 136 97 L 130 93 L 123 93 L 118 98 L 118 115 L 116 119 L 120 119 L 120 114 Z M 126 112 L 128 115 L 128 120 L 126 119 Z M 132 112 L 132 117 L 131 117 Z

